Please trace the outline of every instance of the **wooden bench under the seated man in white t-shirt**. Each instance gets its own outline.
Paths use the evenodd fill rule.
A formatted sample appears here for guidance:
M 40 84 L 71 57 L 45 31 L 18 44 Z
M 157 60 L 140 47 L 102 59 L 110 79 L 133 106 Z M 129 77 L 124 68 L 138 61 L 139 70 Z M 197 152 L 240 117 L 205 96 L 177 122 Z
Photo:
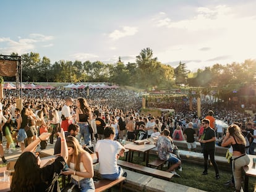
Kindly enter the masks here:
M 120 177 L 116 180 L 107 180 L 107 179 L 101 179 L 94 183 L 95 185 L 95 192 L 101 192 L 108 190 L 109 188 L 119 184 L 119 191 L 122 191 L 122 183 L 124 183 L 124 180 L 126 180 L 126 177 Z

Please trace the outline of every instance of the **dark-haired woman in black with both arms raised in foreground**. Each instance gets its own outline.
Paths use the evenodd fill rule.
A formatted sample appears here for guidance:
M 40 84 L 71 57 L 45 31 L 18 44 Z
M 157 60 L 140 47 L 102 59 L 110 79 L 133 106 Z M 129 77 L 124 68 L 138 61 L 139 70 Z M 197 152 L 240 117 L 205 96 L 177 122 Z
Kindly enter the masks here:
M 14 192 L 37 192 L 47 191 L 53 187 L 53 191 L 59 191 L 58 178 L 59 173 L 64 168 L 67 160 L 67 143 L 64 131 L 61 128 L 61 156 L 57 157 L 52 164 L 40 168 L 40 152 L 35 152 L 40 141 L 48 140 L 51 133 L 43 133 L 35 141 L 25 148 L 14 165 L 14 175 L 12 177 L 11 191 Z

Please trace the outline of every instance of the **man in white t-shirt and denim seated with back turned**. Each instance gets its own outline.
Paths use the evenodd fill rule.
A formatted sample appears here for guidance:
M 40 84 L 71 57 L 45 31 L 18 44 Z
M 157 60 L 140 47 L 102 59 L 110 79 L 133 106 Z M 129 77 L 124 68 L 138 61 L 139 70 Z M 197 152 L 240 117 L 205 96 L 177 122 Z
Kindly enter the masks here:
M 101 177 L 109 180 L 126 177 L 127 173 L 123 173 L 122 168 L 117 165 L 117 159 L 124 156 L 125 148 L 118 141 L 114 141 L 114 127 L 106 127 L 104 136 L 105 139 L 98 140 L 95 147 Z

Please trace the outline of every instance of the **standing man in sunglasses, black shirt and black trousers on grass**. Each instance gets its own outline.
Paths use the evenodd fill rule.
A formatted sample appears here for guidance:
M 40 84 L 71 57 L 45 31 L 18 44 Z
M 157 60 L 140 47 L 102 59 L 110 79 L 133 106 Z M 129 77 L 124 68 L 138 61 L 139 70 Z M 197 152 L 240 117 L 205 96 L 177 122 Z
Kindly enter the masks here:
M 219 179 L 219 170 L 218 170 L 218 165 L 216 164 L 215 161 L 215 140 L 216 140 L 216 135 L 215 135 L 215 130 L 210 128 L 210 120 L 208 119 L 203 119 L 202 120 L 202 126 L 205 128 L 203 131 L 203 135 L 201 137 L 200 142 L 204 143 L 203 146 L 203 158 L 204 158 L 204 167 L 205 170 L 203 170 L 202 175 L 207 175 L 207 169 L 208 169 L 208 156 L 210 156 L 210 161 L 211 164 L 213 164 L 213 167 L 215 169 L 215 178 Z

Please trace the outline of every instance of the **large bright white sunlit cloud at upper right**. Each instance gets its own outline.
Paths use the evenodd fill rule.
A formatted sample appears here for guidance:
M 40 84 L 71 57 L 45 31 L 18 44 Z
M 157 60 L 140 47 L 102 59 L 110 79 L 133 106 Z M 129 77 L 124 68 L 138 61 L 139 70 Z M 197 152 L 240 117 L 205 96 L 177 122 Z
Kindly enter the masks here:
M 170 42 L 162 51 L 156 52 L 161 62 L 201 60 L 188 62 L 193 69 L 255 59 L 256 15 L 243 15 L 237 7 L 198 7 L 196 14 L 183 20 L 173 21 L 168 15 L 158 14 L 154 26 L 169 33 Z M 162 16 L 162 17 L 161 17 Z M 203 51 L 203 52 L 202 52 Z

